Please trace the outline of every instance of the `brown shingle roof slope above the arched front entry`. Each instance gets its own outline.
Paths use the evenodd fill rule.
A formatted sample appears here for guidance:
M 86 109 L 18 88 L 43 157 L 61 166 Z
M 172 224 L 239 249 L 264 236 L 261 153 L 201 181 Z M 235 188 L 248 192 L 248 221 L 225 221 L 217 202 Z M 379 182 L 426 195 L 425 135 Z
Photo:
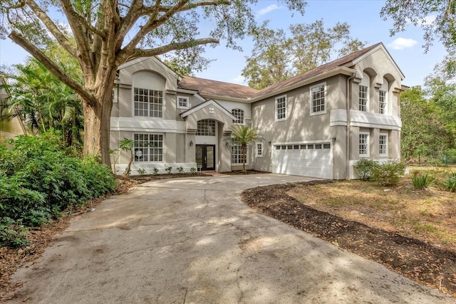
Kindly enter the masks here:
M 177 83 L 178 88 L 187 90 L 197 90 L 199 94 L 206 96 L 219 96 L 227 98 L 250 99 L 258 94 L 258 90 L 245 85 L 235 85 L 234 83 L 223 83 L 222 81 L 209 80 L 184 76 Z

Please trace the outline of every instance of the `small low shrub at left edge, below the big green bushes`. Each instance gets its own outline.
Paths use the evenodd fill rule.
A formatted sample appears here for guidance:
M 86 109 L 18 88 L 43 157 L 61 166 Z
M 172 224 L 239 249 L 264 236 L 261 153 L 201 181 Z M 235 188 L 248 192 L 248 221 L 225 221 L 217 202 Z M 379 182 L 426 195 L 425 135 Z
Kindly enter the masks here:
M 21 220 L 14 221 L 9 217 L 0 219 L 0 247 L 16 248 L 28 246 L 30 241 L 26 238 L 28 229 Z

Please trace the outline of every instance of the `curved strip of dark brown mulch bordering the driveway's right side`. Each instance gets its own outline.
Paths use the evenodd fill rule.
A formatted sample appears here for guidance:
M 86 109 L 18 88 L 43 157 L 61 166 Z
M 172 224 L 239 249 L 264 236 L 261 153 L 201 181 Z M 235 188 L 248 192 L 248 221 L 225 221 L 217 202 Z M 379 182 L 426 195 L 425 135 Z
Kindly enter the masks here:
M 310 187 L 329 182 L 331 181 L 314 181 L 247 189 L 242 193 L 242 200 L 267 216 L 456 297 L 455 251 L 318 211 L 287 194 L 298 184 Z

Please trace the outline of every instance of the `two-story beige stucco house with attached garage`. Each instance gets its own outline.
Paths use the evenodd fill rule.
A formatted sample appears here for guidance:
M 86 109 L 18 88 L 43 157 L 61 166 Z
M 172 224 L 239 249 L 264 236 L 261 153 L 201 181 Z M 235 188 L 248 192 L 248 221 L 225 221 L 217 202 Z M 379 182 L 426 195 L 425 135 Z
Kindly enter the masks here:
M 242 166 L 232 125 L 252 125 L 263 140 L 249 148 L 250 169 L 352 179 L 359 159 L 400 158 L 403 79 L 383 43 L 263 90 L 180 77 L 157 58 L 138 58 L 118 71 L 110 145 L 134 140 L 132 174 L 227 172 Z M 120 154 L 117 172 L 128 159 Z

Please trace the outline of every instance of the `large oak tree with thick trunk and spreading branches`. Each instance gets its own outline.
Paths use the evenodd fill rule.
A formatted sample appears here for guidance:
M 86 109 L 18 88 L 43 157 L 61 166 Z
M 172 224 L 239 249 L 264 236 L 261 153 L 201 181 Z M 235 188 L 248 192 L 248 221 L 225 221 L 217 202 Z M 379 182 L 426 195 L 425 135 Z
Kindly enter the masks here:
M 84 153 L 110 164 L 112 90 L 118 66 L 170 51 L 199 61 L 203 45 L 238 48 L 254 27 L 256 0 L 2 0 L 0 33 L 7 34 L 81 98 Z M 304 0 L 284 0 L 304 14 Z M 207 36 L 199 29 L 212 26 Z M 57 42 L 81 66 L 83 82 L 65 73 L 44 49 Z M 200 61 L 199 61 L 200 62 Z

